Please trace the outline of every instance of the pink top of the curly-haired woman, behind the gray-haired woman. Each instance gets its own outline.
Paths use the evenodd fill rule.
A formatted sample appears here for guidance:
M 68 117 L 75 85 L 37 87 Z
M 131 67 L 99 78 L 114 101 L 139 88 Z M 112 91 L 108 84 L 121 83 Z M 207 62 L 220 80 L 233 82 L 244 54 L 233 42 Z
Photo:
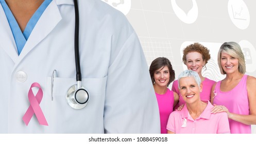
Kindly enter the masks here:
M 204 78 L 204 81 L 202 81 L 202 92 L 200 93 L 200 99 L 201 100 L 210 100 L 211 99 L 211 91 L 213 84 L 216 83 L 213 80 L 210 80 L 208 78 Z M 185 104 L 185 101 L 183 100 L 182 96 L 180 95 L 179 87 L 178 87 L 178 80 L 175 80 L 173 82 L 172 91 L 176 92 L 179 95 L 179 102 L 174 107 L 174 110 L 176 110 L 181 104 Z

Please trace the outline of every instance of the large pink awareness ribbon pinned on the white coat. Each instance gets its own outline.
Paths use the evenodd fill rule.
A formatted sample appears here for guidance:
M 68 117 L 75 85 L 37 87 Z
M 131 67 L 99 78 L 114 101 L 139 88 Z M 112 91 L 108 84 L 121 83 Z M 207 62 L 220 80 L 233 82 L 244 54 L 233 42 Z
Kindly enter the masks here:
M 38 87 L 39 90 L 36 94 L 36 96 L 33 94 L 32 92 L 32 87 Z M 34 82 L 31 84 L 30 88 L 29 88 L 29 91 L 28 91 L 28 100 L 30 102 L 30 105 L 26 111 L 26 113 L 24 114 L 23 116 L 23 121 L 26 123 L 26 125 L 28 125 L 30 119 L 32 118 L 33 114 L 36 115 L 39 123 L 41 125 L 48 125 L 45 117 L 44 117 L 44 114 L 41 110 L 41 107 L 39 106 L 41 100 L 43 98 L 43 91 L 42 91 L 42 88 L 40 86 L 39 83 L 37 82 Z

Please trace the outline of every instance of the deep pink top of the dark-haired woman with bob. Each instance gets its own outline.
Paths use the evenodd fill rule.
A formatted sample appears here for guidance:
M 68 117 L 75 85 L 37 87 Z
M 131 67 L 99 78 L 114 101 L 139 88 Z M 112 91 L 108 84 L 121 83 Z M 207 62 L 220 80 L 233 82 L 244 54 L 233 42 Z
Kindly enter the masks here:
M 166 124 L 170 113 L 173 112 L 174 93 L 173 91 L 170 91 L 169 88 L 167 88 L 167 91 L 164 95 L 159 95 L 156 93 L 156 96 L 160 112 L 161 134 L 166 134 Z

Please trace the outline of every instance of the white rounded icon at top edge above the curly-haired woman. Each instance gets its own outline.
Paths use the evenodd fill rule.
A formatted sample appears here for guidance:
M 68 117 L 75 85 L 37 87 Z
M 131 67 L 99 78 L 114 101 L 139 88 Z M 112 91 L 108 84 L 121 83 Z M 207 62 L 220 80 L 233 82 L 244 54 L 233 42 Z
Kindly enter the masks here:
M 174 10 L 174 13 L 179 17 L 179 19 L 186 23 L 186 24 L 192 24 L 196 21 L 198 17 L 198 7 L 196 0 L 192 0 L 192 8 L 186 13 L 184 10 L 182 10 L 176 3 L 176 0 L 171 0 L 172 7 Z M 186 4 L 184 4 L 186 5 Z

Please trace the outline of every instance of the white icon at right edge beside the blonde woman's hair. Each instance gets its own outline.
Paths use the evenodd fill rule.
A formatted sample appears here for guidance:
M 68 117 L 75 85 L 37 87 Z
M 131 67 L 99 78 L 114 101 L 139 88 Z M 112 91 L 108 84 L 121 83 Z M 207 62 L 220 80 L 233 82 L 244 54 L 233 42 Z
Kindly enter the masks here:
M 253 57 L 256 56 L 256 49 L 247 40 L 240 41 L 239 45 L 245 56 L 246 72 L 253 73 L 256 70 L 256 58 Z

